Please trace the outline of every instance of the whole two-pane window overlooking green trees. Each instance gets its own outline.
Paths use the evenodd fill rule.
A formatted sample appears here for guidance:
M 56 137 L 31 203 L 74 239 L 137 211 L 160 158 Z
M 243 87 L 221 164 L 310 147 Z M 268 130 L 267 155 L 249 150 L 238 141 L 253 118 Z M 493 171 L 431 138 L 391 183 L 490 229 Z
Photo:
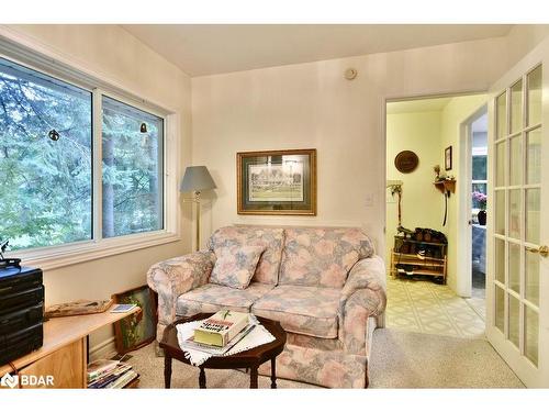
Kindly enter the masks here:
M 92 88 L 0 57 L 0 240 L 12 250 L 165 230 L 164 118 Z

